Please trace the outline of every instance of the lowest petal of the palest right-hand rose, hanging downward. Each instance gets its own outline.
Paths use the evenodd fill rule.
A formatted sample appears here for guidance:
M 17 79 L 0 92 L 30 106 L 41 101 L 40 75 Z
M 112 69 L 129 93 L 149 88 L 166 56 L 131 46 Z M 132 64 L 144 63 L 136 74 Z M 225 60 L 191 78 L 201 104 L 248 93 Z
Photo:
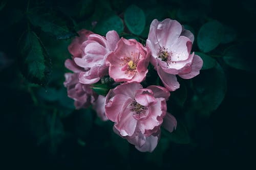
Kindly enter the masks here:
M 177 78 L 175 75 L 167 74 L 162 70 L 160 66 L 157 67 L 157 73 L 162 80 L 163 85 L 169 90 L 169 91 L 175 91 L 178 88 L 180 88 L 180 84 L 177 81 Z

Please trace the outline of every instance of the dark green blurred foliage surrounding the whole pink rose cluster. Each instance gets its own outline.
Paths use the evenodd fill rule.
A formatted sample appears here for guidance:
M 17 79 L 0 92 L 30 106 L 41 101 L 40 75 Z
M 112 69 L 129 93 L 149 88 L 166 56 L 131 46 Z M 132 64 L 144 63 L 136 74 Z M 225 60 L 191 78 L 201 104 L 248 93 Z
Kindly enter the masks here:
M 255 158 L 256 18 L 253 1 L 0 1 L 1 165 L 14 169 L 216 169 Z M 177 130 L 140 153 L 92 110 L 75 110 L 63 87 L 67 47 L 88 29 L 145 44 L 153 19 L 195 35 L 201 74 L 180 79 L 168 112 Z M 31 53 L 33 52 L 33 53 Z M 159 83 L 155 71 L 145 84 Z M 155 82 L 156 80 L 156 82 Z M 152 81 L 152 82 L 151 82 Z M 104 90 L 104 89 L 103 89 Z

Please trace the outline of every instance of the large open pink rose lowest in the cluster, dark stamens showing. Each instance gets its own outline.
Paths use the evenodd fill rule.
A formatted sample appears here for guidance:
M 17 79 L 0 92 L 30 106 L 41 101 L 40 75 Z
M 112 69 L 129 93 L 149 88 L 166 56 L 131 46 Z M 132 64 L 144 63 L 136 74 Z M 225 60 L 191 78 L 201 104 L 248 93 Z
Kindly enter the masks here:
M 143 88 L 139 83 L 124 83 L 109 91 L 105 113 L 121 136 L 157 133 L 166 114 L 169 91 L 160 86 Z

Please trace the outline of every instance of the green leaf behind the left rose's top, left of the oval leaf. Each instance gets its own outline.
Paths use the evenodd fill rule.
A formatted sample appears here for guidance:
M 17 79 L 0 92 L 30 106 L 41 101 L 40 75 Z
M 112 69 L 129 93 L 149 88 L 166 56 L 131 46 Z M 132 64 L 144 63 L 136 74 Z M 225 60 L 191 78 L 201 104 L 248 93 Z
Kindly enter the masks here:
M 121 34 L 123 32 L 123 21 L 119 16 L 108 13 L 97 23 L 94 32 L 100 35 L 106 35 L 111 30 L 115 30 L 118 34 Z

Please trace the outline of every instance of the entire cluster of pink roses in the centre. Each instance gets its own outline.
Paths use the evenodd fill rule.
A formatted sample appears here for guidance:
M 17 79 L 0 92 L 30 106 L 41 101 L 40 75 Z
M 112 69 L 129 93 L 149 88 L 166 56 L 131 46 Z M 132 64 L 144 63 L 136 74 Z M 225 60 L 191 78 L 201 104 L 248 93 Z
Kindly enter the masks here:
M 113 130 L 141 152 L 152 152 L 159 141 L 161 126 L 172 132 L 177 121 L 167 113 L 170 91 L 179 88 L 176 75 L 191 79 L 199 74 L 202 59 L 190 54 L 194 35 L 176 20 L 153 20 L 144 46 L 135 39 L 119 37 L 116 31 L 105 36 L 80 30 L 69 45 L 72 60 L 65 66 L 65 87 L 76 109 L 91 104 L 102 120 L 114 122 Z M 152 64 L 162 86 L 143 87 L 148 65 Z M 91 87 L 112 80 L 106 96 Z

